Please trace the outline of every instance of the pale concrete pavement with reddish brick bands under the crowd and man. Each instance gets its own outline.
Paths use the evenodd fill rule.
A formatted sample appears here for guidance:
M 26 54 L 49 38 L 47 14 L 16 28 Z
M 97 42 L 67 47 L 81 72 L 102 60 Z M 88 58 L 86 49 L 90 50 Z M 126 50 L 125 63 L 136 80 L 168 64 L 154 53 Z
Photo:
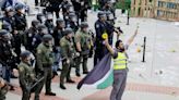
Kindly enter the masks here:
M 88 24 L 94 30 L 96 12 L 88 13 Z M 116 26 L 121 26 L 124 34 L 121 39 L 127 41 L 134 33 L 138 24 L 139 35 L 129 48 L 129 75 L 128 86 L 123 100 L 179 100 L 179 27 L 172 22 L 157 21 L 153 18 L 130 18 L 130 25 L 126 25 L 127 18 L 117 11 Z M 28 23 L 34 16 L 28 17 Z M 143 38 L 146 37 L 146 62 L 142 63 Z M 116 36 L 114 37 L 116 41 Z M 136 50 L 141 49 L 141 52 Z M 93 68 L 93 59 L 88 61 L 88 67 Z M 59 73 L 60 74 L 60 73 Z M 52 82 L 52 91 L 57 97 L 40 95 L 41 100 L 109 100 L 111 87 L 105 90 L 93 88 L 76 89 L 77 82 L 83 77 L 76 77 L 72 71 L 75 84 L 68 84 L 67 90 L 59 88 L 59 77 Z M 12 80 L 19 86 L 17 79 Z M 43 90 L 44 91 L 44 90 Z M 10 91 L 7 100 L 21 100 L 21 89 Z

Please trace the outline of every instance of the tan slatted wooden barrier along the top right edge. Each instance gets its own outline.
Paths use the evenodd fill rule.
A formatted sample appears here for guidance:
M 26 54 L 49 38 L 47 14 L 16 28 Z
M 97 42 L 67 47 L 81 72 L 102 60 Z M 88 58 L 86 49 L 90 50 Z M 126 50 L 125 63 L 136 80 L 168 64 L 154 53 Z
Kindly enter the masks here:
M 179 0 L 132 0 L 131 15 L 179 21 Z

